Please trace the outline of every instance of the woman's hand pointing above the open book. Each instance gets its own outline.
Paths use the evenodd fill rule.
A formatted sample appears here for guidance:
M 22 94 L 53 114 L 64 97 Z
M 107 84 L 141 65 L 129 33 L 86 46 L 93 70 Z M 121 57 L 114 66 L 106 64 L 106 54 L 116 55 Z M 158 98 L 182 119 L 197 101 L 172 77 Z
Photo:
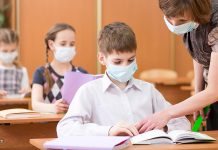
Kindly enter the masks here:
M 170 120 L 170 116 L 166 111 L 157 112 L 135 124 L 139 133 L 150 131 L 153 129 L 163 129 Z

